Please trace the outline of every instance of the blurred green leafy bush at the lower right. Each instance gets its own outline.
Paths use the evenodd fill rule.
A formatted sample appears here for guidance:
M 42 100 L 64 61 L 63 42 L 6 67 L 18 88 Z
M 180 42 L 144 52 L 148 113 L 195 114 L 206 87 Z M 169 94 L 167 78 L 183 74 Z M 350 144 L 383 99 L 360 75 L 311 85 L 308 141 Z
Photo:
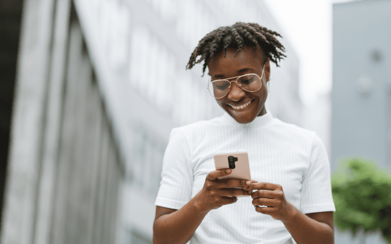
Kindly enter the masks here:
M 391 244 L 391 175 L 374 161 L 360 157 L 342 160 L 331 176 L 335 225 L 355 236 L 380 229 Z

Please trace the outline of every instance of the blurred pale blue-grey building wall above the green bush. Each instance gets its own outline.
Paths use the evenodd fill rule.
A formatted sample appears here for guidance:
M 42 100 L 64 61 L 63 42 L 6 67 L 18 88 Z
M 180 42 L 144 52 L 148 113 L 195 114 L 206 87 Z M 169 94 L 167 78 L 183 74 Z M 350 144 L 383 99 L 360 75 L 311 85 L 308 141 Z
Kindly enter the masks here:
M 391 172 L 390 12 L 389 0 L 333 4 L 332 171 L 362 156 Z M 360 243 L 337 229 L 335 240 Z M 386 242 L 377 234 L 367 243 Z

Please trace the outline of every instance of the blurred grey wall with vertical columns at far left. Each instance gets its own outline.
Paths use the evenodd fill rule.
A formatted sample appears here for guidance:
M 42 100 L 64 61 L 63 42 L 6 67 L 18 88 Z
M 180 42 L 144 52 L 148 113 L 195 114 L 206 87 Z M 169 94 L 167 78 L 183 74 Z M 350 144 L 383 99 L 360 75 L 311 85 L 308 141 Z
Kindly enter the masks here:
M 0 242 L 115 243 L 125 161 L 72 1 L 25 0 L 20 40 Z

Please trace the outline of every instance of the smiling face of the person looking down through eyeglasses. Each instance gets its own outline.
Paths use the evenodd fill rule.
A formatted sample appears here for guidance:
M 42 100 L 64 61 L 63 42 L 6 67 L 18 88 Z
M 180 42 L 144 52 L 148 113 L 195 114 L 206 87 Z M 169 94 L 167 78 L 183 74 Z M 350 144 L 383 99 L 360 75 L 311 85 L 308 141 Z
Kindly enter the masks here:
M 266 59 L 261 48 L 243 46 L 236 57 L 234 57 L 236 51 L 237 49 L 228 48 L 225 57 L 224 51 L 222 51 L 214 56 L 213 61 L 208 63 L 209 74 L 212 81 L 229 79 L 244 74 L 257 74 L 261 77 L 263 63 Z M 256 92 L 248 92 L 241 89 L 236 82 L 232 82 L 228 94 L 223 98 L 216 99 L 218 105 L 239 123 L 252 122 L 257 116 L 262 116 L 266 113 L 266 82 L 269 81 L 270 76 L 269 60 L 270 59 L 267 58 L 264 65 L 264 71 L 261 77 L 261 89 Z M 234 79 L 229 79 L 229 81 L 232 80 Z M 252 102 L 239 110 L 234 109 L 229 105 L 240 106 L 249 101 Z

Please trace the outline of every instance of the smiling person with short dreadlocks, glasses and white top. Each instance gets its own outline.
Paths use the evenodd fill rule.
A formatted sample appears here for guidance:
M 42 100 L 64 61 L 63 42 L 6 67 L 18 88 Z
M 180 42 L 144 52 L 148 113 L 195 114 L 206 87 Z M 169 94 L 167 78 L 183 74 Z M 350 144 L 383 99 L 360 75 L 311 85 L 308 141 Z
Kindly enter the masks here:
M 273 118 L 264 105 L 269 61 L 279 66 L 276 58 L 286 57 L 274 35 L 280 36 L 237 22 L 199 41 L 188 68 L 205 61 L 211 95 L 226 113 L 171 131 L 155 202 L 154 244 L 334 243 L 323 142 L 315 132 Z M 214 153 L 237 149 L 247 150 L 253 181 L 217 180 L 230 170 L 215 169 Z M 232 186 L 243 189 L 226 188 Z

